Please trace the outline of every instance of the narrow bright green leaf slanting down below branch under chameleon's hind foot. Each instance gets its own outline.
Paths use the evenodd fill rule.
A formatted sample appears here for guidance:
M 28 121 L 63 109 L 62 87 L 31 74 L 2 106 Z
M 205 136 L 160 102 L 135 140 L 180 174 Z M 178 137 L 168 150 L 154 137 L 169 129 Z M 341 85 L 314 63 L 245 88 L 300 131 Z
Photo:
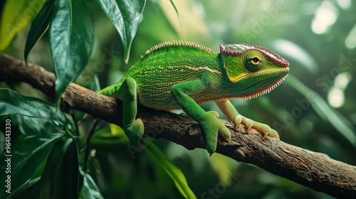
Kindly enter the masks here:
M 152 161 L 156 161 L 162 166 L 168 176 L 172 178 L 174 184 L 179 192 L 182 193 L 184 198 L 197 198 L 197 196 L 195 196 L 193 191 L 189 188 L 184 173 L 177 168 L 177 166 L 174 166 L 174 164 L 169 161 L 167 156 L 163 154 L 163 152 L 159 150 L 159 148 L 153 144 L 152 141 L 145 139 L 145 144 L 147 144 L 147 148 L 145 149 L 147 155 L 150 156 Z

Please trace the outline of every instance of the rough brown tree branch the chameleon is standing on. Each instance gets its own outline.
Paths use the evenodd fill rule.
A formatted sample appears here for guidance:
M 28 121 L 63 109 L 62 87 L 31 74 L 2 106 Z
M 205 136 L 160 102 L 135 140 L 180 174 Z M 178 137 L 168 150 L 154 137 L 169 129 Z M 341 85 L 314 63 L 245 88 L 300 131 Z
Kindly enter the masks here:
M 0 53 L 1 82 L 27 82 L 54 98 L 55 80 L 53 73 L 38 65 L 30 64 L 26 71 L 21 60 Z M 61 109 L 78 109 L 106 122 L 119 126 L 122 124 L 122 103 L 112 97 L 105 97 L 72 83 L 61 99 Z M 173 141 L 189 150 L 206 148 L 199 124 L 184 114 L 177 115 L 140 106 L 137 117 L 145 124 L 145 134 Z M 262 140 L 261 134 L 254 129 L 246 134 L 244 125 L 240 125 L 236 131 L 229 122 L 221 122 L 230 129 L 232 140 L 231 144 L 227 144 L 219 137 L 217 153 L 259 166 L 337 198 L 356 198 L 356 166 L 270 137 Z

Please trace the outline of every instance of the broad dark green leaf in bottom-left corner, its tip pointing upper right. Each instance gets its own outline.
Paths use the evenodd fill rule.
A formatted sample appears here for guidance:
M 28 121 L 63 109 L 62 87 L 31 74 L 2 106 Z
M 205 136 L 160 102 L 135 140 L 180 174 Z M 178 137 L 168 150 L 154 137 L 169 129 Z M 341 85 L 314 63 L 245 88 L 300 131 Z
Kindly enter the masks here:
M 11 193 L 16 189 L 21 188 L 31 180 L 36 171 L 41 168 L 41 163 L 46 159 L 51 151 L 53 143 L 61 138 L 63 134 L 51 134 L 47 136 L 19 136 L 15 140 L 10 141 L 11 148 L 4 149 L 2 153 L 1 163 L 6 163 L 5 160 L 11 161 L 11 170 L 8 173 L 11 175 Z M 4 167 L 4 169 L 7 167 Z M 1 173 L 6 173 L 1 171 Z M 6 175 L 0 175 L 0 181 L 6 181 Z M 5 198 L 4 194 L 6 187 L 0 186 L 0 198 Z

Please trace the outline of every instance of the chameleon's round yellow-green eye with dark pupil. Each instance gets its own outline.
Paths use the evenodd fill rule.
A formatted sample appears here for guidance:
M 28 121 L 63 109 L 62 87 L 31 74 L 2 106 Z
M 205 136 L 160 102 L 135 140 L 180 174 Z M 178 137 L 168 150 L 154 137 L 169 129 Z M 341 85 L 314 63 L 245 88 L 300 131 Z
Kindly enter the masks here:
M 242 55 L 242 63 L 248 71 L 256 72 L 266 65 L 266 58 L 258 50 L 248 50 Z

